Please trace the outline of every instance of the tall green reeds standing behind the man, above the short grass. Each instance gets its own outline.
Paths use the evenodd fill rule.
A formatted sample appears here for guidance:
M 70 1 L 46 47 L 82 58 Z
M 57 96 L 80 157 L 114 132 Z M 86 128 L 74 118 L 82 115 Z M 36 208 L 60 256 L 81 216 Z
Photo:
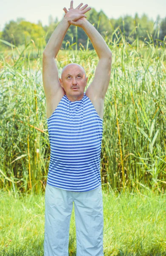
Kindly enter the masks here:
M 137 35 L 137 27 L 135 28 Z M 116 40 L 113 40 L 113 35 Z M 120 36 L 119 36 L 120 35 Z M 149 36 L 149 35 L 148 35 Z M 149 36 L 132 45 L 119 28 L 105 37 L 112 50 L 112 74 L 105 97 L 101 177 L 103 189 L 121 192 L 166 189 L 166 57 L 165 38 Z M 75 45 L 76 44 L 76 45 Z M 77 42 L 60 50 L 64 65 L 81 64 L 94 78 L 98 57 Z M 76 48 L 75 48 L 76 47 Z M 0 55 L 1 135 L 0 188 L 39 194 L 46 186 L 50 145 L 42 83 L 42 49 L 11 45 Z M 75 50 L 76 49 L 76 50 Z

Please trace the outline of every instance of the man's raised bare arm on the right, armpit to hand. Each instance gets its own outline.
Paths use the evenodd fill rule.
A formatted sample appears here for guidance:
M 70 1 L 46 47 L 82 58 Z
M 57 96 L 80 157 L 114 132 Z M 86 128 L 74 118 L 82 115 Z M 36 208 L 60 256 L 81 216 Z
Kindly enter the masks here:
M 112 52 L 103 37 L 88 20 L 81 18 L 76 22 L 73 20 L 68 20 L 68 22 L 72 25 L 82 27 L 92 42 L 92 45 L 99 57 L 94 80 L 87 88 L 86 93 L 94 96 L 95 99 L 104 99 L 111 76 Z

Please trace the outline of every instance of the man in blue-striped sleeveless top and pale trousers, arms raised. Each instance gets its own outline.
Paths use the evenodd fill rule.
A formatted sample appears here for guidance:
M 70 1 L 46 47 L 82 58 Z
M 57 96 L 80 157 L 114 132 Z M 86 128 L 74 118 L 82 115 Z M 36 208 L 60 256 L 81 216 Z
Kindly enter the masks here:
M 74 203 L 77 256 L 103 256 L 103 198 L 100 152 L 104 97 L 109 86 L 112 52 L 86 20 L 87 4 L 69 11 L 43 51 L 43 86 L 51 157 L 45 193 L 44 256 L 69 255 L 69 225 Z M 70 25 L 81 27 L 99 61 L 94 80 L 82 66 L 66 65 L 58 78 L 55 58 Z

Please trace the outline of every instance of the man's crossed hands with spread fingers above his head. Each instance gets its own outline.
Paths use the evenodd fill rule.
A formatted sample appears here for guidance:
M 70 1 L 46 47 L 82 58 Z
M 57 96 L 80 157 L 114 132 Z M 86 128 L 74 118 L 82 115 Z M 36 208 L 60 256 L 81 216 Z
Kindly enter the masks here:
M 75 9 L 73 8 L 73 0 L 70 3 L 69 11 L 67 11 L 66 7 L 63 8 L 65 12 L 64 18 L 72 25 L 82 26 L 83 21 L 86 19 L 85 13 L 88 12 L 91 7 L 88 7 L 88 4 L 81 7 L 83 3 L 80 3 Z M 80 8 L 81 7 L 81 8 Z

